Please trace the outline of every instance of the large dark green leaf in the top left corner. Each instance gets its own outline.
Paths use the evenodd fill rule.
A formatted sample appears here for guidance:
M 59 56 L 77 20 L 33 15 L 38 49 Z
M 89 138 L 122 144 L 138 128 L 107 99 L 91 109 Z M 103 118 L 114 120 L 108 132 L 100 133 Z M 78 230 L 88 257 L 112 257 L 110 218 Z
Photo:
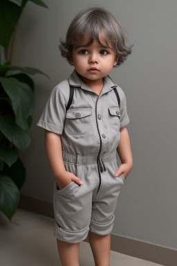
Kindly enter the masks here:
M 7 0 L 0 1 L 0 44 L 7 48 L 15 25 L 21 14 L 21 8 Z

